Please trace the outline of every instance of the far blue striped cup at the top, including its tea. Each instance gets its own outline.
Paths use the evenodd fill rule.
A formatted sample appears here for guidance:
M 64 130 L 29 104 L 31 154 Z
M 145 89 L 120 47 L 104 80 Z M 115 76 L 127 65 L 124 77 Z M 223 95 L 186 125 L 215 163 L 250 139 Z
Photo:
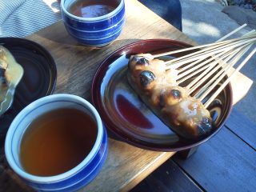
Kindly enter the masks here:
M 67 32 L 86 46 L 110 44 L 125 24 L 124 0 L 62 0 L 61 10 Z

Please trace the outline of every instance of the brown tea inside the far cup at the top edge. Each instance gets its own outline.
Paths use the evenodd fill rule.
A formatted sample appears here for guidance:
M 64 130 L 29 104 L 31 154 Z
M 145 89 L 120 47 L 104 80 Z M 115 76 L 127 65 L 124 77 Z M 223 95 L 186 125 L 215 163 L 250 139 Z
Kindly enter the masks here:
M 78 17 L 96 18 L 109 14 L 118 4 L 118 0 L 77 0 L 67 10 Z

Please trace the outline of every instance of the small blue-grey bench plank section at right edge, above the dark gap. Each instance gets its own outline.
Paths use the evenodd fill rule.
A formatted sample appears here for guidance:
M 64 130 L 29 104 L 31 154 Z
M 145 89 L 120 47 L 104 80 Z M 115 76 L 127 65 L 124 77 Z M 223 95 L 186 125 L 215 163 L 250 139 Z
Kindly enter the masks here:
M 254 122 L 233 109 L 226 121 L 226 126 L 256 150 L 256 124 Z

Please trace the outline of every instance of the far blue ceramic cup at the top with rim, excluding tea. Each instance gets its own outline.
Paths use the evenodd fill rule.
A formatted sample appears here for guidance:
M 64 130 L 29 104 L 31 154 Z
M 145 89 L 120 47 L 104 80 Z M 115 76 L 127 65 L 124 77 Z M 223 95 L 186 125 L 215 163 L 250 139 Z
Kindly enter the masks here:
M 86 46 L 102 47 L 113 42 L 121 34 L 125 24 L 124 0 L 115 1 L 117 6 L 108 14 L 99 17 L 76 16 L 70 6 L 78 0 L 62 0 L 62 18 L 67 32 Z M 84 0 L 86 1 L 86 0 Z

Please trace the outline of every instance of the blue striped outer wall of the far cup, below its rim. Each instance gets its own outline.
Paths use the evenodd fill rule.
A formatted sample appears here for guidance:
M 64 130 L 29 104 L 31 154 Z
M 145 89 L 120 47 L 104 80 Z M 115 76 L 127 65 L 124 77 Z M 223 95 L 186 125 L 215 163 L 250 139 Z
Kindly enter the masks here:
M 125 5 L 109 18 L 86 21 L 73 18 L 62 10 L 62 18 L 67 32 L 86 46 L 106 46 L 118 38 L 125 24 Z

